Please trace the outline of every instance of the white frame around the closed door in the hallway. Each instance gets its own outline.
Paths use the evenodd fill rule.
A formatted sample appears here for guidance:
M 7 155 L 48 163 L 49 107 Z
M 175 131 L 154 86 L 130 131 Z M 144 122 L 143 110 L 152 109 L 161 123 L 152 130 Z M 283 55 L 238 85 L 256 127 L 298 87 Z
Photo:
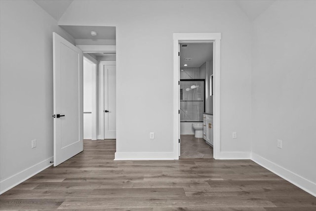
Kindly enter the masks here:
M 100 61 L 99 63 L 99 74 L 98 74 L 98 83 L 99 83 L 99 121 L 98 121 L 98 139 L 105 139 L 104 135 L 104 65 L 116 65 L 116 61 Z

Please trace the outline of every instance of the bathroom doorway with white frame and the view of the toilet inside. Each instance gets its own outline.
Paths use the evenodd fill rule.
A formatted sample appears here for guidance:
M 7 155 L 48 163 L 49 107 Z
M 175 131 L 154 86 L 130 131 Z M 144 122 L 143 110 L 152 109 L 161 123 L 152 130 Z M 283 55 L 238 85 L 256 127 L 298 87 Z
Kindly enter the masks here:
M 174 154 L 219 158 L 220 33 L 174 33 Z M 217 152 L 217 153 L 216 153 Z

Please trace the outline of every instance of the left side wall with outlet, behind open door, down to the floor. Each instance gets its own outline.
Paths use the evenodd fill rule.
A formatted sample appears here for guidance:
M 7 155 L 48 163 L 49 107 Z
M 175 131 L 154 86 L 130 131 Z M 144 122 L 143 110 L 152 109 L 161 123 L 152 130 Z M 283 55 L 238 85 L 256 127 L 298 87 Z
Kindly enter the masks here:
M 0 1 L 0 192 L 53 160 L 52 32 L 74 43 L 33 0 Z

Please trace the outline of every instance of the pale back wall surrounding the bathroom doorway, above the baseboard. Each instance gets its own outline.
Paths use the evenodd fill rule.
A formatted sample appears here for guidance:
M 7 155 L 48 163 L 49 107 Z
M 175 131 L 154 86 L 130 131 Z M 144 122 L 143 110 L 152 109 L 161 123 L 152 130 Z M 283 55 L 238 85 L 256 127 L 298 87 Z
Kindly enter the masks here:
M 221 150 L 250 152 L 251 24 L 234 1 L 80 0 L 59 24 L 117 27 L 117 152 L 126 156 L 173 152 L 173 33 L 221 32 Z

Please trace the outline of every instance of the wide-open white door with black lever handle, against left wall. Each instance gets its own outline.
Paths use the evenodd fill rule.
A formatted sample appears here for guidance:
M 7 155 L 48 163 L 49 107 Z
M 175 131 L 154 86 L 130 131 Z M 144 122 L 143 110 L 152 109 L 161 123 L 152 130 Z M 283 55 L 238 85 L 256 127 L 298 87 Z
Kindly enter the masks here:
M 53 33 L 54 166 L 83 150 L 82 51 Z

